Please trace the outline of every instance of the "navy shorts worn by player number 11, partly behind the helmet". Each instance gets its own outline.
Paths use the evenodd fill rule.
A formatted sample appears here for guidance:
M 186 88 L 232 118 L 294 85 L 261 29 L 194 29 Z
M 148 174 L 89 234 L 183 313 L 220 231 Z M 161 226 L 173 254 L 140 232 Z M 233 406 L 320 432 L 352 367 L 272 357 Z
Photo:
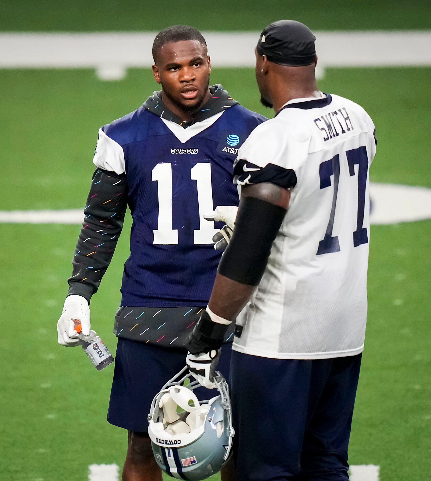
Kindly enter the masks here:
M 229 380 L 232 344 L 223 344 L 217 366 Z M 108 422 L 131 431 L 148 431 L 148 413 L 154 396 L 185 367 L 184 349 L 166 349 L 118 338 L 114 378 L 108 408 Z M 200 400 L 217 395 L 217 390 L 199 387 Z

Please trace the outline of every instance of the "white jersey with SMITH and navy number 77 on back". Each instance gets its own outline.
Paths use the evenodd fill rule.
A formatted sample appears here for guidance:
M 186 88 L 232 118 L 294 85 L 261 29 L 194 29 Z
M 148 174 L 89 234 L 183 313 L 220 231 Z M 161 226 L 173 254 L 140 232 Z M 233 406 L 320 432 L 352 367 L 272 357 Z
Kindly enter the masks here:
M 373 133 L 362 107 L 322 94 L 287 102 L 239 149 L 238 185 L 271 182 L 291 198 L 262 280 L 238 316 L 234 350 L 280 359 L 362 352 Z

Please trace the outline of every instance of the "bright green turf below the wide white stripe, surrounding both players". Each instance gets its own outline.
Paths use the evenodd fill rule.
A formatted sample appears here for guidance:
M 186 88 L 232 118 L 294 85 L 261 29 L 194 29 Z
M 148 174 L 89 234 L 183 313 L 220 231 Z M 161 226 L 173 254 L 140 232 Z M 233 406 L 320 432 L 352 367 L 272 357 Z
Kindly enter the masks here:
M 320 81 L 374 119 L 371 180 L 431 187 L 430 79 L 430 68 L 329 69 Z M 259 105 L 251 69 L 216 68 L 212 80 L 270 113 Z M 1 209 L 84 206 L 98 128 L 154 87 L 149 70 L 119 82 L 100 82 L 91 70 L 0 70 Z M 113 351 L 129 227 L 91 303 L 92 324 Z M 79 227 L 0 224 L 0 231 L 0 480 L 84 481 L 90 464 L 122 466 L 125 433 L 106 422 L 113 366 L 97 372 L 80 348 L 57 344 Z M 430 241 L 431 221 L 371 229 L 369 326 L 350 461 L 380 465 L 382 481 L 431 480 Z

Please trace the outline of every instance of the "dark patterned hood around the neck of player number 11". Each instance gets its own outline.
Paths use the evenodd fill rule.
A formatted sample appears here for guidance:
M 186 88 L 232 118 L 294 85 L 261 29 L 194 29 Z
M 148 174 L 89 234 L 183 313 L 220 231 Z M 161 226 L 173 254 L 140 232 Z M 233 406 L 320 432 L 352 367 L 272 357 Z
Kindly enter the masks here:
M 181 119 L 166 107 L 161 99 L 161 90 L 153 92 L 153 95 L 148 97 L 148 100 L 142 105 L 151 113 L 156 114 L 165 120 L 175 122 L 183 128 L 187 128 L 239 103 L 230 97 L 229 93 L 226 90 L 223 90 L 220 84 L 212 85 L 209 87 L 209 91 L 211 92 L 211 98 L 208 102 L 202 105 L 195 116 L 189 121 Z

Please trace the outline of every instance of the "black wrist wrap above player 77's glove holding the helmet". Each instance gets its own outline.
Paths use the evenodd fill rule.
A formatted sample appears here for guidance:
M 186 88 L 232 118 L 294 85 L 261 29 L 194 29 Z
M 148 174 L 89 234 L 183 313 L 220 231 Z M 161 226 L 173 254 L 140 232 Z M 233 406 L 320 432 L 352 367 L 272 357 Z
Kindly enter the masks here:
M 230 324 L 212 321 L 208 312 L 202 311 L 195 329 L 185 342 L 185 347 L 191 354 L 208 353 L 213 349 L 218 350 L 222 347 L 224 334 L 229 326 Z

